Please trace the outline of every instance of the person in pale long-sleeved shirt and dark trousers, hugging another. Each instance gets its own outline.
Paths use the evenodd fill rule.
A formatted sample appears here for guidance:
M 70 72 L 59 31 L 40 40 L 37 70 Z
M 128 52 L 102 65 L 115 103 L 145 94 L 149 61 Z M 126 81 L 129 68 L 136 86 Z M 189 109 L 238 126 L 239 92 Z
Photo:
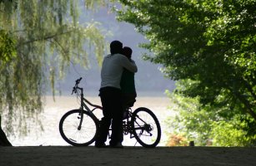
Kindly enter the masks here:
M 112 41 L 110 55 L 103 59 L 101 71 L 101 86 L 99 96 L 103 105 L 103 118 L 100 121 L 99 133 L 95 147 L 103 148 L 108 138 L 108 129 L 112 125 L 110 147 L 123 148 L 123 105 L 120 81 L 123 68 L 131 72 L 137 72 L 137 66 L 133 60 L 120 54 L 123 51 L 123 43 Z

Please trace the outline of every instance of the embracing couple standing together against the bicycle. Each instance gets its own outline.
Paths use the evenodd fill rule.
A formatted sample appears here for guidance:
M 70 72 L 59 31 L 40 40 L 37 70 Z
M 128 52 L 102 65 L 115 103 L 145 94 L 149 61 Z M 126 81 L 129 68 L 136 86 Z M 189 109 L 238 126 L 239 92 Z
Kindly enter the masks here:
M 123 111 L 133 105 L 136 98 L 134 73 L 138 71 L 132 60 L 132 49 L 123 47 L 121 41 L 110 43 L 110 53 L 103 59 L 99 96 L 103 105 L 103 118 L 100 121 L 95 147 L 106 147 L 108 129 L 112 125 L 109 146 L 123 148 Z

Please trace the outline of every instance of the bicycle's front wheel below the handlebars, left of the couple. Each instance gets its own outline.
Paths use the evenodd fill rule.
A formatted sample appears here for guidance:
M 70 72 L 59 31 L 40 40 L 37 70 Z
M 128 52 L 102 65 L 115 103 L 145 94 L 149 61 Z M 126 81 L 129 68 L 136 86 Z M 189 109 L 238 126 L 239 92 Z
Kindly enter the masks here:
M 79 128 L 81 110 L 70 110 L 59 122 L 59 132 L 63 139 L 74 146 L 88 146 L 96 139 L 98 120 L 83 110 L 83 123 Z

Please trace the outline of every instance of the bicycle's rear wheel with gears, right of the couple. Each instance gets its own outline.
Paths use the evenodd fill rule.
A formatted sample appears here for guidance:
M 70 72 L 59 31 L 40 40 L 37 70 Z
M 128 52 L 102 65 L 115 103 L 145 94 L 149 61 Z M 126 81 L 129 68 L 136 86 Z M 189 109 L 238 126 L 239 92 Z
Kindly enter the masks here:
M 161 139 L 161 127 L 156 115 L 140 107 L 133 112 L 132 129 L 135 139 L 145 148 L 154 148 Z

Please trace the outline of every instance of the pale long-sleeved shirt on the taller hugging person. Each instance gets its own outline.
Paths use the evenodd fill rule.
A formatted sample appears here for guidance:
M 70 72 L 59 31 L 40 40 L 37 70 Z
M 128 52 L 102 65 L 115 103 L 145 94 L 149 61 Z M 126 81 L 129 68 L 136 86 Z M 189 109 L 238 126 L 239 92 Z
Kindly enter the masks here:
M 134 73 L 138 71 L 135 62 L 133 60 L 129 61 L 128 58 L 122 54 L 105 56 L 101 70 L 102 81 L 100 87 L 103 88 L 111 86 L 121 89 L 120 81 L 123 73 L 123 67 Z

